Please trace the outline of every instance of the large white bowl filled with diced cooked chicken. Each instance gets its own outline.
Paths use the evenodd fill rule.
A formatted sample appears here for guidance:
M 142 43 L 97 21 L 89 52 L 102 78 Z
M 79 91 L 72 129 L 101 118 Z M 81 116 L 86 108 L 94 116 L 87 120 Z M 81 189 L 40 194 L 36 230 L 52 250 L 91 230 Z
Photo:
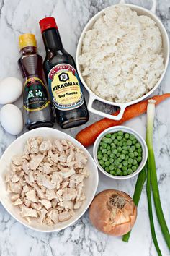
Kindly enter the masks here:
M 73 137 L 37 128 L 14 140 L 0 160 L 0 201 L 19 221 L 37 231 L 71 226 L 89 208 L 98 171 Z

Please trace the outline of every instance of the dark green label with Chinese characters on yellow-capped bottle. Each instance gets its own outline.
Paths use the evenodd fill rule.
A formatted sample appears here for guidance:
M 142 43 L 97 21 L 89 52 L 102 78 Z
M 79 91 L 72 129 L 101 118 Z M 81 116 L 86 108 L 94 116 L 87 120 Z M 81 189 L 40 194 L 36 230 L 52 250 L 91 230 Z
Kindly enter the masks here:
M 27 111 L 40 111 L 50 103 L 47 89 L 37 77 L 31 77 L 24 83 L 23 89 L 24 109 Z

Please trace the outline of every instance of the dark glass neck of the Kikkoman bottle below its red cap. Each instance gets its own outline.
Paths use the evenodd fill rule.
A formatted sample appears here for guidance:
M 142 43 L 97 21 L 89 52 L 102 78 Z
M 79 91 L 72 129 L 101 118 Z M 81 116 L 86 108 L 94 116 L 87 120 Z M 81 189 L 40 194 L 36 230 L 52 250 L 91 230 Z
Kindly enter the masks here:
M 46 51 L 60 51 L 63 49 L 61 36 L 56 28 L 50 28 L 42 33 Z

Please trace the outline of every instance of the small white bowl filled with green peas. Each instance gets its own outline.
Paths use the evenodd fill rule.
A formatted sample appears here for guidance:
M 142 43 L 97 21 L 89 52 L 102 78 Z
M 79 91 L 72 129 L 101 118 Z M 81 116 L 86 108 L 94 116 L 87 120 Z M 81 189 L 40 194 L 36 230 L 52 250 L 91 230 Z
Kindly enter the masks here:
M 124 127 L 105 129 L 94 142 L 94 161 L 103 174 L 112 179 L 129 179 L 146 164 L 148 148 L 135 130 Z

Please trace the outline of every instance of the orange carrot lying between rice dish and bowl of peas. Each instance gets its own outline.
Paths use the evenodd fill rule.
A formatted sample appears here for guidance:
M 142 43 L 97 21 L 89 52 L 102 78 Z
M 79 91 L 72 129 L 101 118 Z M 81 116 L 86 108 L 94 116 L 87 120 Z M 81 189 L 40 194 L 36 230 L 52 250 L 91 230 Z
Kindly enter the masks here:
M 156 95 L 153 96 L 153 99 L 156 100 L 156 105 L 161 103 L 161 101 L 164 101 L 166 98 L 170 98 L 170 93 L 165 93 L 163 95 Z M 76 140 L 81 142 L 84 147 L 89 147 L 94 143 L 97 136 L 104 131 L 104 129 L 107 129 L 109 127 L 113 127 L 116 125 L 120 125 L 124 123 L 125 121 L 128 121 L 130 119 L 133 119 L 135 116 L 140 116 L 141 114 L 146 112 L 148 105 L 148 99 L 146 101 L 141 101 L 139 103 L 136 103 L 134 105 L 128 106 L 125 109 L 125 112 L 122 116 L 122 119 L 119 121 L 115 121 L 112 119 L 101 119 L 94 124 L 91 124 L 89 127 L 86 127 L 85 129 L 82 129 L 77 135 Z M 117 116 L 119 114 L 119 110 L 116 111 L 113 116 Z

